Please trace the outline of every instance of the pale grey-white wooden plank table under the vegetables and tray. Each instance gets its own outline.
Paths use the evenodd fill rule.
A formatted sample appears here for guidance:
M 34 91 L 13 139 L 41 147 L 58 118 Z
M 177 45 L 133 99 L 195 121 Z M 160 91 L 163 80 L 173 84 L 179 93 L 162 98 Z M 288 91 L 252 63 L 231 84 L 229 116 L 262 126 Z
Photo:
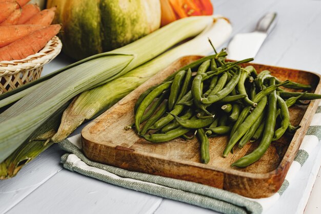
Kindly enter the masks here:
M 312 0 L 213 0 L 215 13 L 230 18 L 233 34 L 249 32 L 269 11 L 278 13 L 277 26 L 255 58 L 256 63 L 321 73 L 321 1 Z M 60 55 L 44 73 L 69 64 Z M 79 129 L 78 129 L 79 130 Z M 268 213 L 321 213 L 321 161 L 317 146 L 280 200 Z M 59 164 L 64 152 L 51 146 L 10 180 L 0 181 L 0 213 L 215 213 L 196 206 L 106 184 L 70 172 Z M 313 173 L 312 173 L 312 172 Z M 301 207 L 301 208 L 300 208 Z M 303 207 L 303 208 L 302 208 Z

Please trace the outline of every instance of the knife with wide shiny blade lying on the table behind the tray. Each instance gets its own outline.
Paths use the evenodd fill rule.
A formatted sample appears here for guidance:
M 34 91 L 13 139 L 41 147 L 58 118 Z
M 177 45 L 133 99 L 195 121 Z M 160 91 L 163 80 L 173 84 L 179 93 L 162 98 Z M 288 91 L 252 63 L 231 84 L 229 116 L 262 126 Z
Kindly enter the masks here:
M 228 58 L 244 60 L 254 57 L 275 24 L 276 13 L 271 12 L 258 21 L 254 32 L 236 34 L 227 47 Z

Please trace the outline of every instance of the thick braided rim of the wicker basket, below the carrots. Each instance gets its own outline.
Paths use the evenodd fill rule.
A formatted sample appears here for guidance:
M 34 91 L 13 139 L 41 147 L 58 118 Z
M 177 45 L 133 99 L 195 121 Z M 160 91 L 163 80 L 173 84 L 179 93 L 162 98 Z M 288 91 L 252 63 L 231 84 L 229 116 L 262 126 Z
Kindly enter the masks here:
M 22 60 L 0 61 L 0 77 L 44 66 L 53 60 L 62 50 L 62 42 L 54 36 L 39 52 Z

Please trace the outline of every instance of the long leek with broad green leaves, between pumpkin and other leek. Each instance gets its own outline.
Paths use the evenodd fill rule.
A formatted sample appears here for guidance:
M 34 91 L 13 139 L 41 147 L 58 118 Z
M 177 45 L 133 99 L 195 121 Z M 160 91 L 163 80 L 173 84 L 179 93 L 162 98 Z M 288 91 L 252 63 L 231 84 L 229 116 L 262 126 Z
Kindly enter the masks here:
M 127 46 L 97 54 L 85 63 L 54 75 L 0 114 L 0 162 L 75 95 L 153 59 L 178 42 L 199 34 L 212 21 L 211 16 L 184 18 Z

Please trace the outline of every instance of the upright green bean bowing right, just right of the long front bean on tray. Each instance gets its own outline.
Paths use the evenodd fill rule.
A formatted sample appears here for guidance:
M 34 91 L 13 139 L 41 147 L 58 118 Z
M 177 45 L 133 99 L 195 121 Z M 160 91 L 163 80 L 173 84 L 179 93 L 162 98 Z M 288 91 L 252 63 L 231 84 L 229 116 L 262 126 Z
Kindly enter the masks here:
M 280 108 L 282 122 L 280 124 L 280 128 L 275 130 L 272 141 L 277 141 L 278 139 L 280 139 L 282 135 L 285 133 L 285 131 L 288 129 L 290 123 L 290 114 L 286 102 L 280 96 L 276 95 L 276 97 L 277 105 Z

